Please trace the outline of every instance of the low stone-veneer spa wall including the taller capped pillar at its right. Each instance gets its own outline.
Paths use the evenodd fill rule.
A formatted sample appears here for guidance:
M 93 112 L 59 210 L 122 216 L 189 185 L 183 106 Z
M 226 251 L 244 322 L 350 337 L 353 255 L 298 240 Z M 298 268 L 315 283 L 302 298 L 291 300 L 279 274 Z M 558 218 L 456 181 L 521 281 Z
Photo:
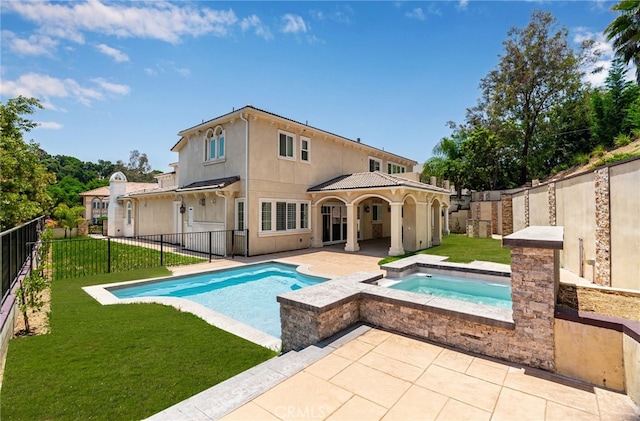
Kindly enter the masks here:
M 362 321 L 465 351 L 554 370 L 558 275 L 554 249 L 562 247 L 562 228 L 538 228 L 548 227 L 531 227 L 521 231 L 527 231 L 524 238 L 503 240 L 511 247 L 512 320 L 469 312 L 470 303 L 457 307 L 455 300 L 438 301 L 366 284 L 362 279 L 333 280 L 278 296 L 283 351 L 309 346 Z M 547 232 L 556 237 L 559 232 L 560 240 L 540 241 L 540 233 Z

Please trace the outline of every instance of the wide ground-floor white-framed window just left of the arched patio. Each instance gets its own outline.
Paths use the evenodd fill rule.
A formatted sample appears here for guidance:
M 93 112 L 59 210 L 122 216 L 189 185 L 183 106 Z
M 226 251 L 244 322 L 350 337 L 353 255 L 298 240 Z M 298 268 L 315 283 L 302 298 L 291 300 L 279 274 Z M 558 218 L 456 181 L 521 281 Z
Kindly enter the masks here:
M 260 232 L 276 234 L 308 231 L 309 206 L 308 201 L 260 199 Z

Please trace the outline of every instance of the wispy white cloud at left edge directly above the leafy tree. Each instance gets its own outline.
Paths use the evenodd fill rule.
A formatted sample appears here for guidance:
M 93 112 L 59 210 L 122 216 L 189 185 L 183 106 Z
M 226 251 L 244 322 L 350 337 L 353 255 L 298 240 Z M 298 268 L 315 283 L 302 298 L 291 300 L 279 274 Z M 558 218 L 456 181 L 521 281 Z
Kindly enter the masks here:
M 16 80 L 3 80 L 0 85 L 0 95 L 39 98 L 47 109 L 57 109 L 51 98 L 72 98 L 77 102 L 90 106 L 93 101 L 105 99 L 105 93 L 126 95 L 129 87 L 109 83 L 101 78 L 93 79 L 96 87 L 82 86 L 74 79 L 58 79 L 49 75 L 27 73 Z

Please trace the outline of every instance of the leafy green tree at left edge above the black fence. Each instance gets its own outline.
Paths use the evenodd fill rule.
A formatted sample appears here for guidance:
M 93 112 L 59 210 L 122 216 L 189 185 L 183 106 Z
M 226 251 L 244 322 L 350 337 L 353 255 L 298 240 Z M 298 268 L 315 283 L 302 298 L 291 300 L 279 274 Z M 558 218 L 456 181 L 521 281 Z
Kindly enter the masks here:
M 37 126 L 26 116 L 41 108 L 37 99 L 23 96 L 0 103 L 0 230 L 27 222 L 51 207 L 46 189 L 55 176 L 40 163 L 38 145 L 23 138 Z

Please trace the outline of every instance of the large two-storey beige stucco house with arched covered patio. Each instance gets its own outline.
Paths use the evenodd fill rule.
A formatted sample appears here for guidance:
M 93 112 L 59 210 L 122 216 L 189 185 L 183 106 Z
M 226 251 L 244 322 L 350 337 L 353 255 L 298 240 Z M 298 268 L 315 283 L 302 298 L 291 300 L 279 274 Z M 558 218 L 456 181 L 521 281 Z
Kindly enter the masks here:
M 156 190 L 126 192 L 112 176 L 110 235 L 248 230 L 250 255 L 387 238 L 399 255 L 447 232 L 449 190 L 359 139 L 249 105 L 179 136 Z

